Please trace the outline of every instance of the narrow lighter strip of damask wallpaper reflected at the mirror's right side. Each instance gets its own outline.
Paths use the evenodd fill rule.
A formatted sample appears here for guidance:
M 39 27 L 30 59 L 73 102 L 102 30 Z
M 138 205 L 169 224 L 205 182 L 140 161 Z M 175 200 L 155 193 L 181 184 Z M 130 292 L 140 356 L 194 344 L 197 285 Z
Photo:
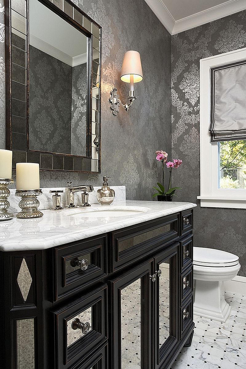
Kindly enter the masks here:
M 71 154 L 86 155 L 87 64 L 72 68 Z

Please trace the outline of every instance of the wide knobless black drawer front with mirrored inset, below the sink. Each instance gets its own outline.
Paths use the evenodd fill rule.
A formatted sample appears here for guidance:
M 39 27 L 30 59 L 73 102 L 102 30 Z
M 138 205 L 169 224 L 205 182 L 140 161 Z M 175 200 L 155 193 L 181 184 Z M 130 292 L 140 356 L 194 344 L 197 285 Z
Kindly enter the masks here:
M 179 213 L 111 233 L 110 272 L 153 253 L 179 237 Z

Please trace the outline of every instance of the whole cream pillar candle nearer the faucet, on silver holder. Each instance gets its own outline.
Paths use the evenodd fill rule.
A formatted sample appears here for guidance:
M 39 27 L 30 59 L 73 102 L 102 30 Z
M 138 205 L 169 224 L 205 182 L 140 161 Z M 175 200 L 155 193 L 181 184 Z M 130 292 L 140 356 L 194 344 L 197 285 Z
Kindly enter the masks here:
M 39 190 L 39 164 L 16 163 L 16 189 Z

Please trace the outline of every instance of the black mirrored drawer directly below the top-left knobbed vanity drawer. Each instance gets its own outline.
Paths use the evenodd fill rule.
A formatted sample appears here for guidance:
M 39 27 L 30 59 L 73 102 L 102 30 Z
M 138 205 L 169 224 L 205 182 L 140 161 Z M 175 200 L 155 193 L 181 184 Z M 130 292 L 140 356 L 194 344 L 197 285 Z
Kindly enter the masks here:
M 55 311 L 54 317 L 56 368 L 67 369 L 107 339 L 107 286 Z

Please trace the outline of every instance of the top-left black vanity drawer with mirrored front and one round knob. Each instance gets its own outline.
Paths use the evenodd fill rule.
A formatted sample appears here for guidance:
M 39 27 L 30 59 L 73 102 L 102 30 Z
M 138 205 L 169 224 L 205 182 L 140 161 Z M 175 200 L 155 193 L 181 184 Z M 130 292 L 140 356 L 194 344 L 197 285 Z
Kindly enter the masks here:
M 106 244 L 100 236 L 54 248 L 54 301 L 107 275 Z

